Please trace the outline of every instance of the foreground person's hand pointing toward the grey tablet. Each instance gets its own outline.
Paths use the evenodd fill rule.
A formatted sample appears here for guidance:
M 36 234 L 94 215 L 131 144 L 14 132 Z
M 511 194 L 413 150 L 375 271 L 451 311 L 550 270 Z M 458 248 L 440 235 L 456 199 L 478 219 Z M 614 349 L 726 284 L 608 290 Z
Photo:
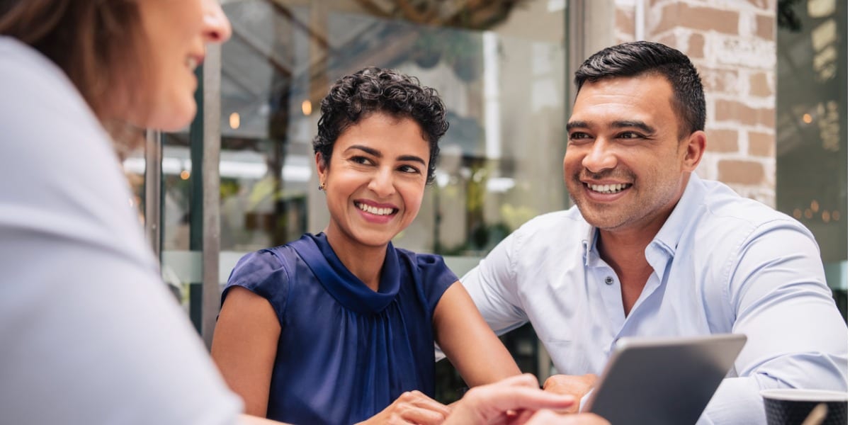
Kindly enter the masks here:
M 574 403 L 574 397 L 541 391 L 534 375 L 519 375 L 467 391 L 452 405 L 445 425 L 522 424 L 540 409 L 565 409 Z

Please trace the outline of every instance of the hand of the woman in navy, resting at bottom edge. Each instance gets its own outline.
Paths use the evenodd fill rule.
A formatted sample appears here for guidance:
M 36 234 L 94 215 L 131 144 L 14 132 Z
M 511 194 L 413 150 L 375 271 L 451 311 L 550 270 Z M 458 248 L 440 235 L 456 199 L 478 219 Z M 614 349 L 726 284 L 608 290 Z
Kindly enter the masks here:
M 360 424 L 405 424 L 439 425 L 449 416 L 450 409 L 446 405 L 431 399 L 419 391 L 408 391 L 395 399 L 375 416 Z

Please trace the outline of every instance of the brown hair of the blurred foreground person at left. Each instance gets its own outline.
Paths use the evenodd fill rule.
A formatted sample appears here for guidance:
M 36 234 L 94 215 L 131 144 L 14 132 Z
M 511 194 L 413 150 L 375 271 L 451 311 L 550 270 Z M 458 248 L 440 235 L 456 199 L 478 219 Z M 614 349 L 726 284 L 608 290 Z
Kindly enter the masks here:
M 130 96 L 116 88 L 144 73 L 137 0 L 0 0 L 0 34 L 59 65 L 101 122 Z M 113 125 L 106 123 L 106 127 Z

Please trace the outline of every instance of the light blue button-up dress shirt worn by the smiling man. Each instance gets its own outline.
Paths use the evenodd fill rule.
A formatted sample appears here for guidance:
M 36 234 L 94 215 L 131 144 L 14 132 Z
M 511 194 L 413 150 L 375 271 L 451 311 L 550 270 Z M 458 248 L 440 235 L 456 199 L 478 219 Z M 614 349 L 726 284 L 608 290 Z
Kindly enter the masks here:
M 654 273 L 628 316 L 597 235 L 575 207 L 541 215 L 462 283 L 497 333 L 530 321 L 564 374 L 600 374 L 620 337 L 745 334 L 699 423 L 765 423 L 762 388 L 847 390 L 847 325 L 796 220 L 692 174 L 646 247 Z

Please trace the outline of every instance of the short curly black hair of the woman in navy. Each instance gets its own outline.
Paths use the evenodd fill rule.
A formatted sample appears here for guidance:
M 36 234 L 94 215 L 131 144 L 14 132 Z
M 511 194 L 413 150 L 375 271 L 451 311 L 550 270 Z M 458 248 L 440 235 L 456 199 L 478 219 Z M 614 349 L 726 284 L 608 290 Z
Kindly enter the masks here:
M 313 139 L 313 152 L 330 164 L 333 144 L 346 128 L 373 113 L 411 118 L 422 128 L 428 140 L 427 182 L 433 181 L 439 155 L 439 138 L 449 129 L 445 105 L 437 90 L 424 87 L 416 77 L 398 71 L 369 67 L 337 80 L 321 101 L 319 132 Z

